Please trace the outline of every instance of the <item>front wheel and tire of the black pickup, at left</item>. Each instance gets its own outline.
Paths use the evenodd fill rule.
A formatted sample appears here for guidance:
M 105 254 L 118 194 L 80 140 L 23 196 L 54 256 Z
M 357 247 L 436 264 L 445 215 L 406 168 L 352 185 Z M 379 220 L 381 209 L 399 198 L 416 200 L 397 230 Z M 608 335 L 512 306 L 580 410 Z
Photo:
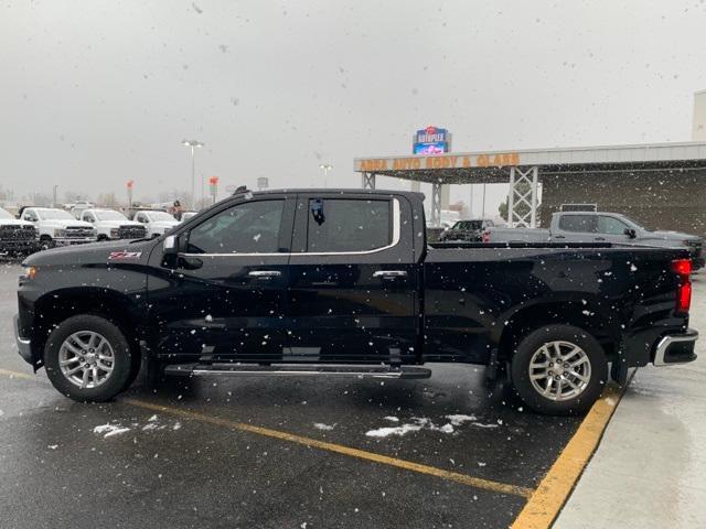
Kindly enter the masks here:
M 81 314 L 52 331 L 44 347 L 44 366 L 61 393 L 79 402 L 105 402 L 127 388 L 133 356 L 130 343 L 114 323 Z

